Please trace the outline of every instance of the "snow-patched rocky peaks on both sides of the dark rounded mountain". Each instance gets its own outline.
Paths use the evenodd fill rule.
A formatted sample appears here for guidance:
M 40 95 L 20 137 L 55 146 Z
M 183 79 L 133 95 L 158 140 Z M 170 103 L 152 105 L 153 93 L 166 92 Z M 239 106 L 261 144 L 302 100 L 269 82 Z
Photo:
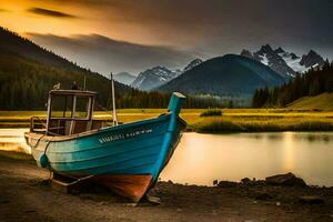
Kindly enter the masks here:
M 261 62 L 264 65 L 270 67 L 276 73 L 279 73 L 284 81 L 296 77 L 296 74 L 302 74 L 309 69 L 314 67 L 321 67 L 324 63 L 324 59 L 313 50 L 303 56 L 297 56 L 294 52 L 287 52 L 281 47 L 273 49 L 270 44 L 262 46 L 260 50 L 255 52 L 250 52 L 249 50 L 243 50 L 241 56 Z M 201 59 L 192 60 L 183 70 L 172 71 L 165 67 L 153 67 L 143 72 L 140 72 L 137 79 L 132 82 L 131 87 L 141 90 L 153 90 L 169 81 L 186 73 L 194 67 L 201 64 L 203 61 Z M 235 68 L 236 69 L 236 68 Z M 198 80 L 200 81 L 200 80 Z M 121 81 L 125 83 L 124 81 Z

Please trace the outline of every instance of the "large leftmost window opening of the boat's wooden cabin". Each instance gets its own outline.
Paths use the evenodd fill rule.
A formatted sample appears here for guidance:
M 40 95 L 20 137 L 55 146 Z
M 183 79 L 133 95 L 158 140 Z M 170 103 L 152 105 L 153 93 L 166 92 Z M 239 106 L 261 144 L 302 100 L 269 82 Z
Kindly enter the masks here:
M 54 95 L 51 103 L 51 118 L 72 118 L 73 97 Z

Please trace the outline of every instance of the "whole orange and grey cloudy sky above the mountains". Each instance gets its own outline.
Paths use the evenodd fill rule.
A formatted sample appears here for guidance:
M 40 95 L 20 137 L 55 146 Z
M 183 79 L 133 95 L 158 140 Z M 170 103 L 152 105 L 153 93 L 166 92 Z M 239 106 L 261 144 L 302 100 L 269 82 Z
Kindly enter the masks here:
M 270 43 L 333 59 L 333 0 L 0 0 L 0 26 L 108 74 Z

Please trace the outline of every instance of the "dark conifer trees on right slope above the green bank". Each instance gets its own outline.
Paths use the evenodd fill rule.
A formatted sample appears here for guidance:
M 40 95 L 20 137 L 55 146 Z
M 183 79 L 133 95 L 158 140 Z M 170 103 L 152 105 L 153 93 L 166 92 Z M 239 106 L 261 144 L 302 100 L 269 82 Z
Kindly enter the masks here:
M 330 63 L 329 60 L 322 68 L 312 68 L 281 87 L 255 90 L 252 107 L 284 108 L 302 97 L 313 97 L 323 92 L 333 92 L 333 63 Z

